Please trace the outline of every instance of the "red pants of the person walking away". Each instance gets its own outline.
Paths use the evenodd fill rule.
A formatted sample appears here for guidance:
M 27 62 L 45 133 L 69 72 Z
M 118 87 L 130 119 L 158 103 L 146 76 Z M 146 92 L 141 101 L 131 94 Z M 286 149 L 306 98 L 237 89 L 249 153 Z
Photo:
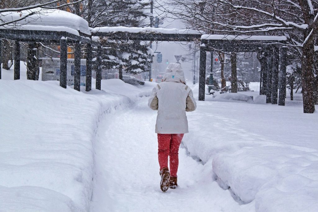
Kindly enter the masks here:
M 170 176 L 176 177 L 179 165 L 179 146 L 184 134 L 159 134 L 158 133 L 158 160 L 160 170 L 170 164 Z

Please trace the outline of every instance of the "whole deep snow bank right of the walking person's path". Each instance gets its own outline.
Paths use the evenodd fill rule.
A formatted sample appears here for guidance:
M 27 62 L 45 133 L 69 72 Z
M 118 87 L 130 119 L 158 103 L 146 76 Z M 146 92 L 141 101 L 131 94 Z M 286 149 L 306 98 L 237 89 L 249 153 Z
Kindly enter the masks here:
M 318 207 L 318 113 L 308 116 L 286 102 L 206 101 L 187 113 L 183 145 L 190 155 L 211 164 L 211 178 L 240 204 L 253 202 L 257 212 Z

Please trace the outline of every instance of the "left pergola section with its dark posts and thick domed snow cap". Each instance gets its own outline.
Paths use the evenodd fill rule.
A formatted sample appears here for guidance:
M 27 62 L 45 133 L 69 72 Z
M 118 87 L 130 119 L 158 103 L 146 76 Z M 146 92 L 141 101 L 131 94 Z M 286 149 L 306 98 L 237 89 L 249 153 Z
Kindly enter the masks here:
M 34 13 L 30 15 L 30 13 Z M 86 44 L 86 91 L 92 85 L 92 46 L 100 46 L 92 41 L 88 22 L 75 14 L 57 9 L 36 8 L 20 12 L 3 12 L 1 21 L 8 23 L 0 27 L 0 38 L 15 41 L 14 79 L 20 79 L 20 42 L 57 44 L 60 46 L 60 86 L 67 84 L 67 44 L 74 45 L 74 89 L 80 90 L 81 44 Z M 20 16 L 26 16 L 21 19 Z M 12 22 L 12 20 L 17 20 Z M 0 40 L 1 49 L 1 40 Z M 36 51 L 30 49 L 28 54 Z M 0 53 L 0 64 L 2 62 Z M 33 55 L 32 55 L 33 57 Z M 1 69 L 0 69 L 1 70 Z M 0 73 L 1 79 L 1 73 Z

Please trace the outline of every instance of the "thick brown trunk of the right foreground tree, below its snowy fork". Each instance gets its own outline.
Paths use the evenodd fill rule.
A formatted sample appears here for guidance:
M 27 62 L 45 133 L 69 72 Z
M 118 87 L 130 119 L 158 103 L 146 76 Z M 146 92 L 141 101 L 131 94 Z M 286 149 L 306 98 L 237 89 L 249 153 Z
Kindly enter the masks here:
M 301 56 L 301 82 L 304 113 L 315 112 L 314 102 L 314 43 L 308 40 L 302 47 Z

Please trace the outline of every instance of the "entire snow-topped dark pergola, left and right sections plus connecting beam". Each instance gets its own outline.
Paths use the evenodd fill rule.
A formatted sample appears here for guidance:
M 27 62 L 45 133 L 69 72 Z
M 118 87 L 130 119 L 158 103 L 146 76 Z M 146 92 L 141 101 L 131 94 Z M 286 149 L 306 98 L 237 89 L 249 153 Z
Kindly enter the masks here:
M 16 13 L 9 14 L 11 16 Z M 31 16 L 29 18 L 32 18 Z M 12 18 L 11 18 L 12 19 Z M 38 21 L 39 19 L 39 21 Z M 267 61 L 262 66 L 261 91 L 266 93 L 266 102 L 277 104 L 278 76 L 280 74 L 279 105 L 285 104 L 286 96 L 286 48 L 283 48 L 284 36 L 234 36 L 234 35 L 202 35 L 202 32 L 189 29 L 164 29 L 152 27 L 97 27 L 90 28 L 88 22 L 72 13 L 50 10 L 41 18 L 32 18 L 32 22 L 22 25 L 0 27 L 0 38 L 15 41 L 14 79 L 20 79 L 20 42 L 56 43 L 60 45 L 60 86 L 66 88 L 67 82 L 67 44 L 74 44 L 75 73 L 74 89 L 80 90 L 80 45 L 86 44 L 86 91 L 91 90 L 92 46 L 100 44 L 92 40 L 93 36 L 106 37 L 109 40 L 139 41 L 194 41 L 201 39 L 199 100 L 204 101 L 206 52 L 266 52 Z M 36 20 L 36 21 L 34 21 Z M 34 21 L 34 22 L 33 22 Z M 24 22 L 23 22 L 24 23 Z M 61 25 L 59 25 L 61 24 Z M 18 26 L 18 27 L 17 27 Z M 1 51 L 1 39 L 0 39 Z M 31 51 L 30 51 L 31 52 Z M 0 64 L 1 64 L 0 53 Z M 96 58 L 96 89 L 101 85 L 101 58 Z M 212 70 L 212 65 L 211 65 Z M 1 71 L 1 69 L 0 69 Z M 1 79 L 1 72 L 0 72 Z

